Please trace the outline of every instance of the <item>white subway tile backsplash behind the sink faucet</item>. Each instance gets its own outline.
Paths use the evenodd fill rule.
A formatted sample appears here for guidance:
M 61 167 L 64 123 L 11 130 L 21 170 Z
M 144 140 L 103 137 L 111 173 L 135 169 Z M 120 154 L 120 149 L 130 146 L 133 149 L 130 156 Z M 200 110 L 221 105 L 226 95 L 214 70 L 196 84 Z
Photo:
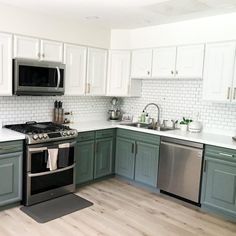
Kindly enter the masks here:
M 202 100 L 201 80 L 143 80 L 142 97 L 124 98 L 122 109 L 137 118 L 147 103 L 157 103 L 161 119 L 194 118 L 199 113 L 204 128 L 236 130 L 236 104 Z M 156 108 L 148 109 L 156 117 Z

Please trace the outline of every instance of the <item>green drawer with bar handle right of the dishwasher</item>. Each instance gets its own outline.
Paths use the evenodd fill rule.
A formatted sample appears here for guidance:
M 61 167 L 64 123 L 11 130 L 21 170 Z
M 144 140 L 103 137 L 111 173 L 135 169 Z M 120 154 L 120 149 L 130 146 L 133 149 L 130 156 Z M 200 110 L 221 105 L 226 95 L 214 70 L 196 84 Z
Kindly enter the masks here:
M 205 156 L 236 163 L 236 150 L 206 145 Z

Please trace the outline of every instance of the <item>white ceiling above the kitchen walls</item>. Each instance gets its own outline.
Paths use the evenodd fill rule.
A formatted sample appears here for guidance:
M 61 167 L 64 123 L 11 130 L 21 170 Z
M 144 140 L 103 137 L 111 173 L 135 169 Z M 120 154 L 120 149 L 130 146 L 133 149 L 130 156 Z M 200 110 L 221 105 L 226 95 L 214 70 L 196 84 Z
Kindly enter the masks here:
M 108 28 L 138 28 L 236 11 L 236 0 L 0 0 Z

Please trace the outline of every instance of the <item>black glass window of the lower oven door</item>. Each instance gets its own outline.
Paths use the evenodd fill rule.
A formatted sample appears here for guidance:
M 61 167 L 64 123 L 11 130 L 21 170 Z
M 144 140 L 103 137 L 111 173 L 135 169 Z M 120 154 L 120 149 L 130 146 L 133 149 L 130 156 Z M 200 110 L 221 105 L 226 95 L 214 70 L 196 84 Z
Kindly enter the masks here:
M 31 177 L 31 195 L 73 184 L 74 168 L 54 174 Z

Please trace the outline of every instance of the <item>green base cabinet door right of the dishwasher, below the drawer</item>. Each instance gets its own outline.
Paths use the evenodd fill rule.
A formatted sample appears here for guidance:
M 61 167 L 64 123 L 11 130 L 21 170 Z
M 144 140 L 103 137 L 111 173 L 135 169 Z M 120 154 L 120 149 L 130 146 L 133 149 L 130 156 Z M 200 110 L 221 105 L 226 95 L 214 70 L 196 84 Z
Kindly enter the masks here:
M 236 217 L 236 162 L 206 158 L 202 204 Z

